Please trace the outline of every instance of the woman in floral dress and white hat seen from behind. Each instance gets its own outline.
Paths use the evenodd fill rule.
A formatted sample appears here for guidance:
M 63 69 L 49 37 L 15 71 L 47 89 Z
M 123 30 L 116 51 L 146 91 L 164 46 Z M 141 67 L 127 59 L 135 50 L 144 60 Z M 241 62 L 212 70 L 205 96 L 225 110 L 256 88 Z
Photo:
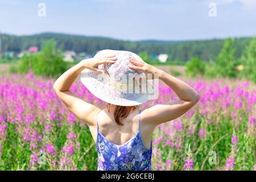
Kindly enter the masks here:
M 105 109 L 89 104 L 69 90 L 79 75 L 94 96 L 108 103 Z M 138 105 L 150 99 L 151 93 L 143 93 L 145 84 L 134 80 L 150 78 L 149 75 L 170 86 L 180 100 L 138 109 Z M 146 86 L 150 83 L 147 79 Z M 133 92 L 124 92 L 124 85 Z M 136 85 L 139 90 L 133 89 Z M 68 109 L 88 125 L 96 142 L 98 170 L 151 170 L 151 135 L 155 127 L 180 117 L 200 99 L 191 86 L 144 63 L 135 53 L 109 49 L 68 69 L 53 88 Z

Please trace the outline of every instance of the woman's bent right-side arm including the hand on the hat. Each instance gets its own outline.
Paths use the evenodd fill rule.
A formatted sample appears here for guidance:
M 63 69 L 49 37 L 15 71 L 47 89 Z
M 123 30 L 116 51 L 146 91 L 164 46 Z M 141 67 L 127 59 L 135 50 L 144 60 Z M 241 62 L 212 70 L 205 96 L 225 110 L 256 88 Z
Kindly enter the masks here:
M 131 63 L 135 64 L 135 66 L 130 66 L 131 69 L 136 69 L 137 71 L 142 71 L 146 74 L 156 73 L 159 79 L 170 86 L 170 88 L 174 90 L 174 92 L 180 98 L 180 100 L 177 101 L 172 101 L 167 104 L 157 104 L 143 110 L 143 119 L 148 123 L 151 123 L 152 127 L 180 117 L 199 101 L 199 93 L 178 78 L 171 76 L 168 73 L 147 63 L 140 63 L 136 60 L 131 60 Z

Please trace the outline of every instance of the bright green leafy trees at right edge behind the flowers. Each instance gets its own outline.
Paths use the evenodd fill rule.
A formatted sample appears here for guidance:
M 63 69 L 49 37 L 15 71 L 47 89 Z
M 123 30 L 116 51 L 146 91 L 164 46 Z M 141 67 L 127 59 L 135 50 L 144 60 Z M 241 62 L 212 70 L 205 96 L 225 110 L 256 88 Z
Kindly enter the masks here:
M 234 39 L 225 39 L 225 42 L 216 59 L 205 63 L 199 57 L 193 57 L 185 64 L 185 75 L 196 77 L 229 77 L 246 78 L 256 83 L 256 38 L 245 46 L 240 57 L 236 57 L 237 49 Z

